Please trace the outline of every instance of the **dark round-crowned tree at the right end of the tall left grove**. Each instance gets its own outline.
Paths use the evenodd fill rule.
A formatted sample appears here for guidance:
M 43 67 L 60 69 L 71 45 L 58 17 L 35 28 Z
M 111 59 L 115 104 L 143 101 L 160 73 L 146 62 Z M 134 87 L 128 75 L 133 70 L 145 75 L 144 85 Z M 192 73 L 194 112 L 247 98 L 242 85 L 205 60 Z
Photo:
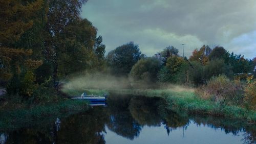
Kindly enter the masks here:
M 100 66 L 105 47 L 101 44 L 102 38 L 97 41 L 96 35 L 96 28 L 87 19 L 74 20 L 63 29 L 59 36 L 62 47 L 57 57 L 58 76 L 66 77 L 77 71 Z

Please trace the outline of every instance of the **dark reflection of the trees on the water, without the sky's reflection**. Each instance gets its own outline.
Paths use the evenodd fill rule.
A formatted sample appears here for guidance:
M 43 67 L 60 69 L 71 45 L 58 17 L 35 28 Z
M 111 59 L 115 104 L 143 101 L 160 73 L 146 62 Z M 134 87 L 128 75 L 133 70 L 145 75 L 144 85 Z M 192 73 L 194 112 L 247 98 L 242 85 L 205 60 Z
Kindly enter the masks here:
M 255 125 L 221 117 L 180 115 L 168 111 L 166 102 L 161 98 L 111 94 L 107 102 L 108 107 L 93 107 L 89 111 L 60 118 L 60 121 L 40 125 L 37 122 L 33 127 L 0 133 L 5 135 L 4 143 L 105 143 L 106 127 L 118 136 L 133 140 L 144 126 L 164 126 L 169 135 L 177 128 L 185 131 L 193 122 L 233 135 L 246 132 L 243 142 L 256 142 Z

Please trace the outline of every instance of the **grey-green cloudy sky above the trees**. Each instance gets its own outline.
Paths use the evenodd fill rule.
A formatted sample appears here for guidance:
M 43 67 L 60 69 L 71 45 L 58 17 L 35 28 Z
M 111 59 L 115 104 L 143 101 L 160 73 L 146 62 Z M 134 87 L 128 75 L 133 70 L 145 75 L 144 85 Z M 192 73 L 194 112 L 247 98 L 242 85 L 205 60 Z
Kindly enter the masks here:
M 134 41 L 147 56 L 168 45 L 182 55 L 185 43 L 187 57 L 203 44 L 256 57 L 255 0 L 89 0 L 81 15 L 102 35 L 106 53 Z

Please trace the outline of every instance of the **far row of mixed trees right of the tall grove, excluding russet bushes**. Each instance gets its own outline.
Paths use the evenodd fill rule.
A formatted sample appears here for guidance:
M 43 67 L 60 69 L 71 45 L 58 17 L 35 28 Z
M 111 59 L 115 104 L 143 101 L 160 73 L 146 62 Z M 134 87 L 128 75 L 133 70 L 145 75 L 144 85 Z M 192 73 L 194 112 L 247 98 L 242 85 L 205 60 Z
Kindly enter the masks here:
M 222 46 L 211 49 L 203 45 L 187 59 L 179 56 L 174 46 L 167 46 L 153 57 L 141 54 L 133 42 L 121 45 L 109 52 L 106 62 L 116 76 L 129 76 L 134 82 L 173 83 L 199 86 L 221 74 L 230 79 L 246 80 L 255 75 L 256 58 L 227 52 Z

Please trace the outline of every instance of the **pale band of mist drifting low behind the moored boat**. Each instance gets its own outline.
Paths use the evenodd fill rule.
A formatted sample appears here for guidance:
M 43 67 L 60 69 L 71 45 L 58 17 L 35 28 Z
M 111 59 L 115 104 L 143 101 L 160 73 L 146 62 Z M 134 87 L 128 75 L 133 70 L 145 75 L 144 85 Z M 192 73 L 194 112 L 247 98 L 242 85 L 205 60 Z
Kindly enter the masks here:
M 194 89 L 181 85 L 136 81 L 134 82 L 129 77 L 115 77 L 108 74 L 89 74 L 80 75 L 70 78 L 63 85 L 65 90 L 82 90 L 82 89 L 166 89 L 172 91 L 190 91 Z

